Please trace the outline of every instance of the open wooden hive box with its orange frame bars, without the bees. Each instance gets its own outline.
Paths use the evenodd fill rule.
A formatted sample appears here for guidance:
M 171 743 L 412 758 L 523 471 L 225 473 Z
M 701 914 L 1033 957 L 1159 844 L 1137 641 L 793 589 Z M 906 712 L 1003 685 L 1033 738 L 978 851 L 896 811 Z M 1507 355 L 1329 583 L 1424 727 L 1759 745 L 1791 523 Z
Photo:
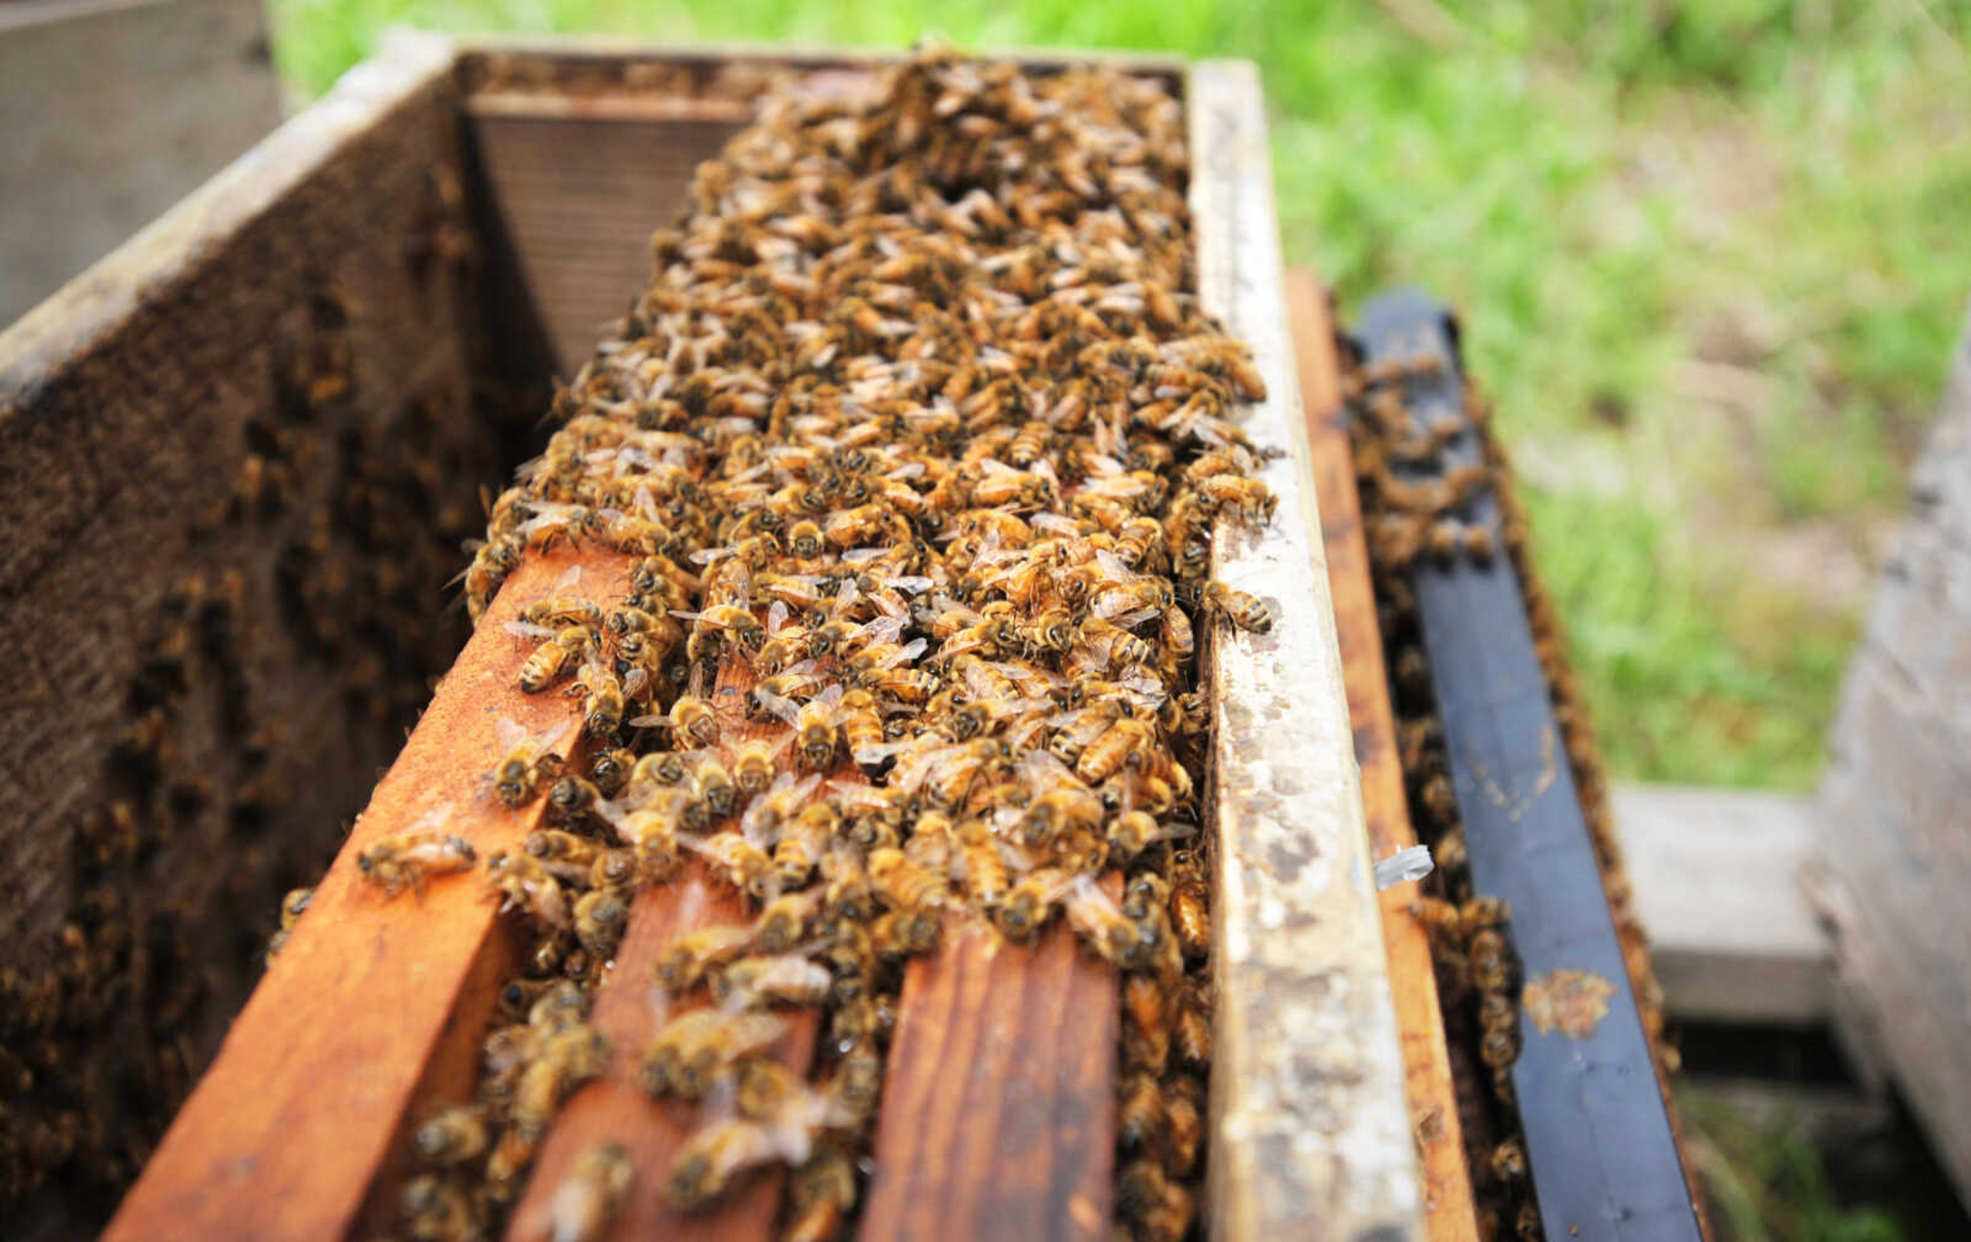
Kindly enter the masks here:
M 0 655 L 28 670 L 0 706 L 24 808 L 0 828 L 0 921 L 24 946 L 0 1000 L 37 1074 L 0 1189 L 30 1236 L 101 1220 L 140 1163 L 110 1236 L 388 1222 L 406 1126 L 467 1090 L 512 946 L 477 885 L 378 913 L 355 856 L 438 798 L 473 804 L 493 722 L 552 708 L 509 690 L 520 655 L 497 627 L 465 643 L 445 609 L 457 540 L 483 520 L 479 489 L 538 449 L 552 377 L 621 313 L 648 233 L 753 114 L 759 71 L 869 63 L 398 35 L 0 337 L 0 580 L 18 601 Z M 1200 296 L 1267 380 L 1254 440 L 1287 449 L 1265 471 L 1279 517 L 1214 552 L 1281 623 L 1208 651 L 1208 1222 L 1470 1236 L 1455 1126 L 1413 1128 L 1455 1102 L 1421 932 L 1386 901 L 1386 950 L 1370 875 L 1301 414 L 1303 382 L 1332 396 L 1334 353 L 1309 329 L 1297 377 L 1257 73 L 1125 63 L 1181 91 Z M 491 619 L 562 564 L 530 560 Z M 357 812 L 254 986 L 278 895 Z M 473 832 L 497 848 L 524 826 Z M 1376 850 L 1401 840 L 1384 824 Z M 692 901 L 639 903 L 621 974 Z M 712 919 L 737 917 L 719 901 Z M 960 936 L 913 966 L 861 1234 L 1106 1236 L 1116 1003 L 1064 934 L 1035 952 Z M 617 988 L 597 1021 L 637 1039 L 648 1015 Z M 641 1126 L 648 1159 L 672 1149 L 635 1104 L 621 1080 L 578 1094 L 536 1181 L 607 1128 Z M 692 1228 L 765 1236 L 775 1205 L 763 1183 Z M 654 1201 L 625 1226 L 682 1228 Z

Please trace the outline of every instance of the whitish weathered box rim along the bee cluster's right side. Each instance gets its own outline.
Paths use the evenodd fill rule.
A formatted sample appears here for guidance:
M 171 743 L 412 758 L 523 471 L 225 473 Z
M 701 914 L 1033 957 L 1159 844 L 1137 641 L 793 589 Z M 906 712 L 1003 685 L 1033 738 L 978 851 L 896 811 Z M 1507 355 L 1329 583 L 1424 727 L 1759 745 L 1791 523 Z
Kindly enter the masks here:
M 1222 526 L 1214 540 L 1218 576 L 1271 599 L 1279 621 L 1212 649 L 1210 1232 L 1413 1238 L 1417 1155 L 1287 341 L 1259 75 L 1198 63 L 1185 101 L 1198 294 L 1265 377 L 1248 432 L 1289 449 L 1261 473 L 1279 497 L 1273 524 Z

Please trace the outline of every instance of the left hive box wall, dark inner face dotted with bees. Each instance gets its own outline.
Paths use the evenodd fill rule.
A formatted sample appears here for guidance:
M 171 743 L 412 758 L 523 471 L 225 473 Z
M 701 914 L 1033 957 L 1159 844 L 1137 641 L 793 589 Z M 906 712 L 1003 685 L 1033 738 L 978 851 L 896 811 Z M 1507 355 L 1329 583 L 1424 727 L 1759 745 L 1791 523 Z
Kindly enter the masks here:
M 51 1232 L 106 1218 L 463 641 L 443 582 L 503 465 L 426 244 L 465 235 L 447 65 L 351 75 L 0 335 L 0 934 L 59 982 L 0 998 L 39 1065 L 0 1130 L 81 1124 Z

